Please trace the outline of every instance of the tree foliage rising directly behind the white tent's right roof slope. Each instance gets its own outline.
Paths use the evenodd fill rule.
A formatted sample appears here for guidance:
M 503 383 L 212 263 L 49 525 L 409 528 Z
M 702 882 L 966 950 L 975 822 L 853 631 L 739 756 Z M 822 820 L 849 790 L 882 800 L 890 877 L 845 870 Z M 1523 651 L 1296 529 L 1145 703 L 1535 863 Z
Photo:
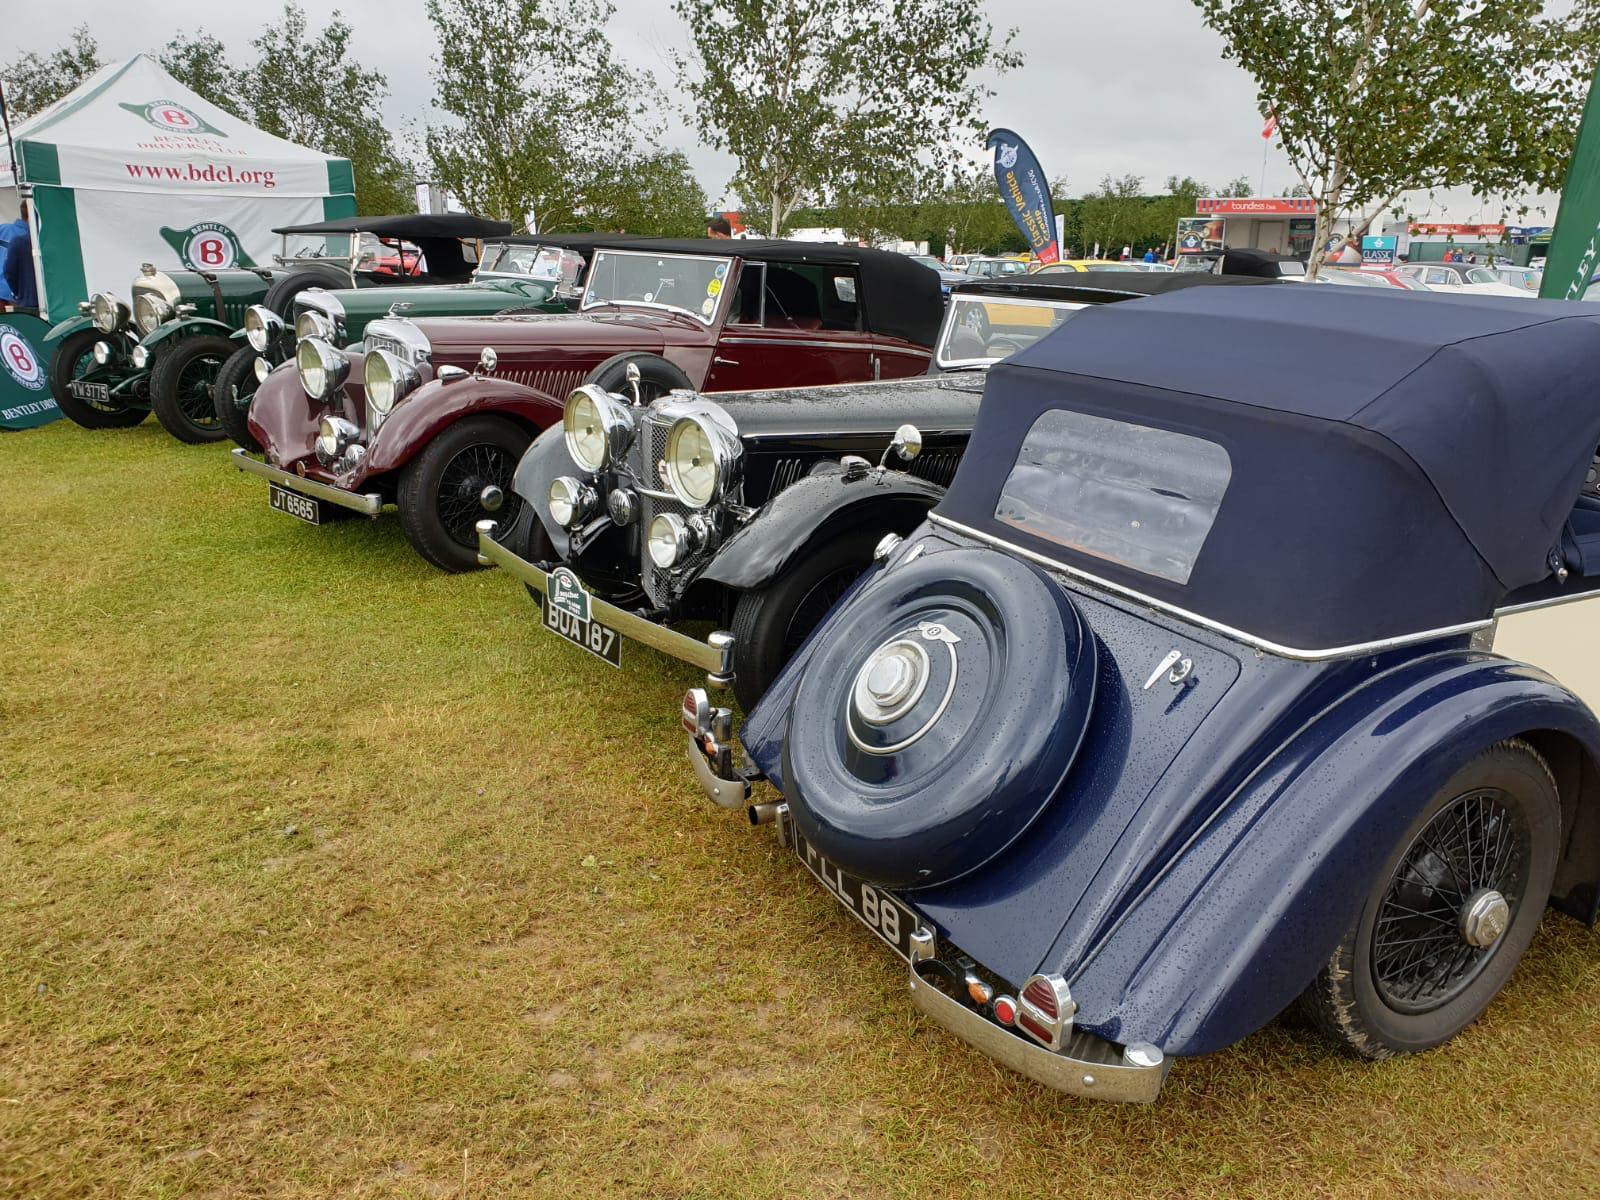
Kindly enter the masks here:
M 226 46 L 205 30 L 179 34 L 160 59 L 178 80 L 240 120 L 349 158 L 362 213 L 408 213 L 416 208 L 410 171 L 382 115 L 389 82 L 352 58 L 350 34 L 338 11 L 312 34 L 304 10 L 285 3 L 278 24 L 251 40 L 251 62 L 230 62 Z

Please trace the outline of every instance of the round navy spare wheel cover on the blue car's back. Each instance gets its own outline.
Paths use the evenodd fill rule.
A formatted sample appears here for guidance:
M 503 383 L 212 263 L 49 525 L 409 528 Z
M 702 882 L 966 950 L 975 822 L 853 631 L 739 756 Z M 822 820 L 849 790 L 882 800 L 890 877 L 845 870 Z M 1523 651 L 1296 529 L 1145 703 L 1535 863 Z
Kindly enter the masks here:
M 922 888 L 976 870 L 1059 790 L 1094 699 L 1066 589 L 995 550 L 923 555 L 814 635 L 784 779 L 806 840 L 853 875 Z

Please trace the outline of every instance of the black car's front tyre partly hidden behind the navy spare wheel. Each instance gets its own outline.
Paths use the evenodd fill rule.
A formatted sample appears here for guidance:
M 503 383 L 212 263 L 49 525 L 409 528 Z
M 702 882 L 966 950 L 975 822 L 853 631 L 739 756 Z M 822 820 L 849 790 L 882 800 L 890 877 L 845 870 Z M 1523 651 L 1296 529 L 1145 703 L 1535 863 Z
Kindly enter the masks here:
M 824 542 L 765 587 L 744 592 L 733 610 L 733 694 L 749 712 L 795 656 L 827 610 L 872 565 L 883 530 L 845 533 Z

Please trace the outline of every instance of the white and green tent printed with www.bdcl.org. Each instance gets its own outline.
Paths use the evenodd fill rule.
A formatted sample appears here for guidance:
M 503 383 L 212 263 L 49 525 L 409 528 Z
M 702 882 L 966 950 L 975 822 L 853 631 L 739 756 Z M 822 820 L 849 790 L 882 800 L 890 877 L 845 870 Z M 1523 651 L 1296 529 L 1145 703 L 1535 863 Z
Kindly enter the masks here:
M 53 320 L 96 291 L 126 301 L 142 262 L 270 266 L 275 226 L 355 213 L 347 160 L 245 125 L 149 54 L 94 72 L 13 138 Z M 0 155 L 0 211 L 16 213 L 16 187 Z

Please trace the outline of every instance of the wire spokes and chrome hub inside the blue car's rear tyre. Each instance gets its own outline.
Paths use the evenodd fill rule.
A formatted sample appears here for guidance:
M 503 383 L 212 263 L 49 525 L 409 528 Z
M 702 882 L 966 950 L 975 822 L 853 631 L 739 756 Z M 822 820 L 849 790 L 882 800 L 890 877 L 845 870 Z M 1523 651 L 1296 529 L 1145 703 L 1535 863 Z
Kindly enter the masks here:
M 1373 925 L 1373 984 L 1397 1013 L 1448 1005 L 1488 965 L 1526 899 L 1531 830 L 1499 789 L 1467 792 L 1413 838 Z

